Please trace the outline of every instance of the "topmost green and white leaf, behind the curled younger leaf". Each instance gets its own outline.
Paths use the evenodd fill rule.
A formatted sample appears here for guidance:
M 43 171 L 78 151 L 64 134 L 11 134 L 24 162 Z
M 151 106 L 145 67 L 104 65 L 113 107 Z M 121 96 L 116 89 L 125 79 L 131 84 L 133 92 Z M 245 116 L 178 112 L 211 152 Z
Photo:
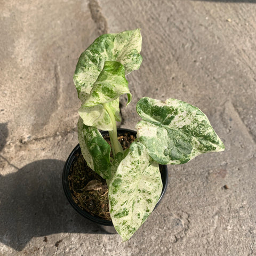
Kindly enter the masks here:
M 118 61 L 125 75 L 137 70 L 142 62 L 141 34 L 139 29 L 98 37 L 79 57 L 74 83 L 82 104 L 90 94 L 106 61 Z

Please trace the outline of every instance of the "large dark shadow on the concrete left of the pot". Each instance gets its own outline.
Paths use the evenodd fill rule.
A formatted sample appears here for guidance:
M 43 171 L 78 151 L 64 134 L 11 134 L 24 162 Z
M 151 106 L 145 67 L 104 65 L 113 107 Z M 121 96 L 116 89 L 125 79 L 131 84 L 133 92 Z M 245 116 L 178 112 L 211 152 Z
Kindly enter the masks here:
M 64 164 L 45 159 L 0 175 L 0 242 L 21 251 L 32 237 L 105 233 L 69 205 L 61 181 Z

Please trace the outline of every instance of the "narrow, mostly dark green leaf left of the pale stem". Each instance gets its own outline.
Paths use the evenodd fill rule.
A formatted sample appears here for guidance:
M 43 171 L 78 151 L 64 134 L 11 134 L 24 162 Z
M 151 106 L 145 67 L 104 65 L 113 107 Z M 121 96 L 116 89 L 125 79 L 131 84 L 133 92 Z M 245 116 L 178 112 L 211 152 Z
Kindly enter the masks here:
M 111 177 L 110 146 L 98 129 L 83 124 L 78 119 L 78 141 L 87 165 L 103 179 Z

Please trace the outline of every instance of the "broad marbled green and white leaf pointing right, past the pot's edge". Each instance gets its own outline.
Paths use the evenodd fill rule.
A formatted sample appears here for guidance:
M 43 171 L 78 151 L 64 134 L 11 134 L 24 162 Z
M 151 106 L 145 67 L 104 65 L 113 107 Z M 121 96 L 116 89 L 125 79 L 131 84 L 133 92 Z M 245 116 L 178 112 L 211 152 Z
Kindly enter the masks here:
M 142 98 L 137 138 L 160 164 L 183 164 L 209 151 L 225 149 L 209 119 L 197 107 L 177 99 Z

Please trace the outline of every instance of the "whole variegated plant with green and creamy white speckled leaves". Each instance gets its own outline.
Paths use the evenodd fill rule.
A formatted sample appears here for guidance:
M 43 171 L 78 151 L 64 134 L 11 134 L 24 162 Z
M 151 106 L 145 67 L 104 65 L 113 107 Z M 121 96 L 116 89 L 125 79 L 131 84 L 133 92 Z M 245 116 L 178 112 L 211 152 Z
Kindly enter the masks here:
M 119 97 L 132 95 L 125 76 L 139 69 L 139 29 L 97 38 L 78 60 L 74 83 L 79 108 L 78 139 L 87 165 L 106 179 L 109 210 L 123 241 L 147 219 L 161 195 L 158 164 L 182 164 L 224 145 L 209 120 L 186 102 L 142 98 L 137 112 L 137 141 L 123 150 L 117 140 Z M 111 147 L 99 130 L 109 131 Z M 113 152 L 113 158 L 110 157 Z

